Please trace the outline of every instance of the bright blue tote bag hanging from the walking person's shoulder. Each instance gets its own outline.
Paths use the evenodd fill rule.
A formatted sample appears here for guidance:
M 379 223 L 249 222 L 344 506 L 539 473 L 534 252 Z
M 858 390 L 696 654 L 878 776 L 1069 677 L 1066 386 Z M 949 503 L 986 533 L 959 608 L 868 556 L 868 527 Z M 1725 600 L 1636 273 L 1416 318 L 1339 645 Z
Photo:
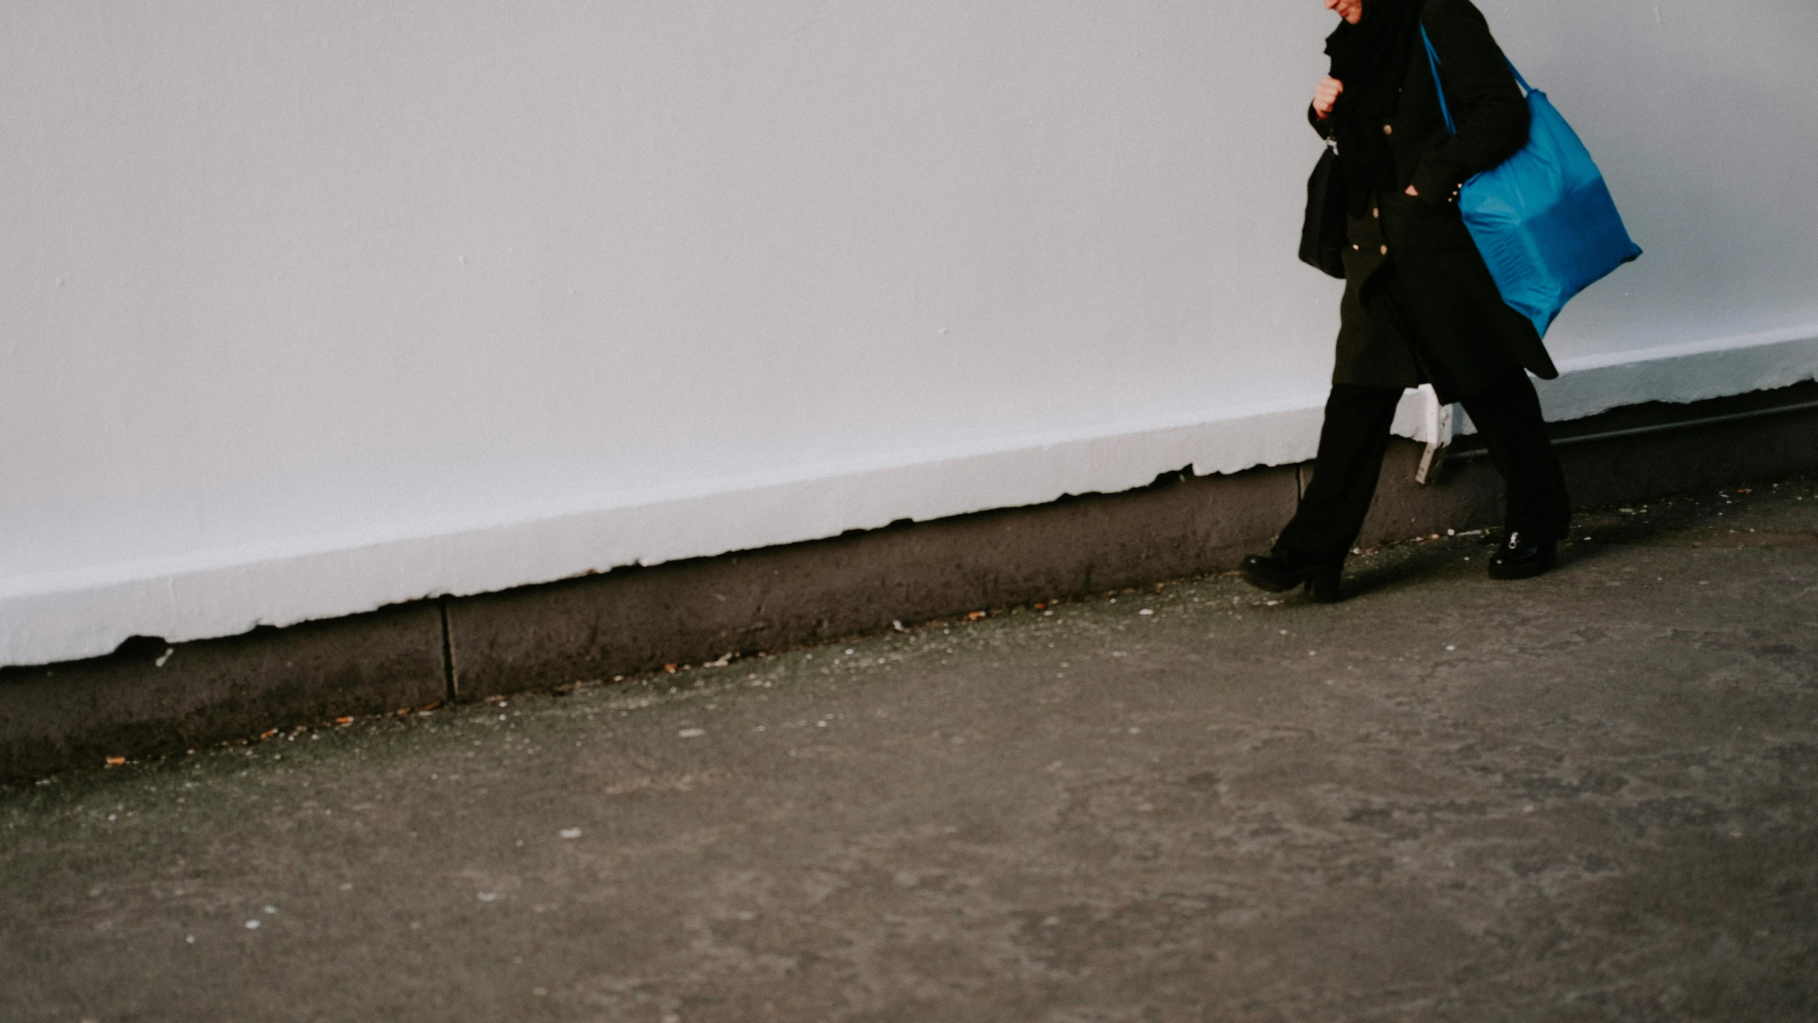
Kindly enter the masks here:
M 1458 134 L 1440 82 L 1440 55 L 1425 25 L 1420 38 L 1427 44 L 1445 129 Z M 1514 71 L 1513 64 L 1509 71 Z M 1520 71 L 1514 71 L 1514 80 L 1527 93 L 1527 145 L 1465 182 L 1458 209 L 1502 300 L 1533 320 L 1543 338 L 1574 294 L 1636 260 L 1642 247 L 1622 225 L 1603 173 L 1573 125 Z

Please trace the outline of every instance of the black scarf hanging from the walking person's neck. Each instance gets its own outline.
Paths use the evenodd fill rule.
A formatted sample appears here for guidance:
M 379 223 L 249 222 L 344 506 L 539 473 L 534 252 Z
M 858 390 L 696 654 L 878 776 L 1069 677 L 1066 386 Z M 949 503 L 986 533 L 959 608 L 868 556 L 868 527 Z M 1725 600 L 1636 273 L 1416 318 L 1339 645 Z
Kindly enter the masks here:
M 1364 20 L 1340 22 L 1325 40 L 1333 78 L 1345 91 L 1333 107 L 1333 138 L 1345 171 L 1347 205 L 1362 216 L 1378 191 L 1393 191 L 1394 156 L 1382 125 L 1394 118 L 1425 0 L 1364 0 Z

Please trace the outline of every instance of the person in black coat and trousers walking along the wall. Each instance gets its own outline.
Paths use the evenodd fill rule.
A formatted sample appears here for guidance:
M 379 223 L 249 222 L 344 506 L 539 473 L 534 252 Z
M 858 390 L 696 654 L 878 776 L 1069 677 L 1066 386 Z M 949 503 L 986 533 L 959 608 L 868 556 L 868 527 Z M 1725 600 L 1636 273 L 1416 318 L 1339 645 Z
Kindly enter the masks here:
M 1496 291 L 1458 213 L 1463 182 L 1527 144 L 1529 107 L 1471 0 L 1324 0 L 1342 22 L 1307 113 L 1344 176 L 1345 294 L 1313 482 L 1244 578 L 1340 598 L 1345 554 L 1376 492 L 1394 409 L 1431 383 L 1462 402 L 1507 483 L 1498 580 L 1553 567 L 1571 523 L 1565 478 L 1527 372 L 1558 376 L 1534 323 Z M 1422 27 L 1443 56 L 1447 131 Z

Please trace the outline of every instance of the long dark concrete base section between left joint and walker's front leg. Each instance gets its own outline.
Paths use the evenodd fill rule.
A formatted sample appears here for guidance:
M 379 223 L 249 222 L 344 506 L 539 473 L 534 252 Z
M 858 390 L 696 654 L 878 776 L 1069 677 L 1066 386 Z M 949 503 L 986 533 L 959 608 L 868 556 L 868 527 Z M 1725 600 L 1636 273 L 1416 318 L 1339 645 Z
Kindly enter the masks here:
M 462 698 L 780 651 L 971 611 L 1227 571 L 1296 471 L 1087 494 L 449 601 Z

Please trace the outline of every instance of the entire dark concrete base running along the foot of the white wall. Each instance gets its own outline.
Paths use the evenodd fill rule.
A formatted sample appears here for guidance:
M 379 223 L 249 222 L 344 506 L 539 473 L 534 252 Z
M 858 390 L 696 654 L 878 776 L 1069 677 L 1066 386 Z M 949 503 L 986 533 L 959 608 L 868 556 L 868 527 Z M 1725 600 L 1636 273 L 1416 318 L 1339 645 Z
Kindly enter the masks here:
M 1818 383 L 1620 409 L 1565 423 L 1560 454 L 1580 507 L 1802 472 L 1818 467 L 1818 409 L 1574 440 L 1814 398 Z M 1420 452 L 1411 442 L 1391 447 L 1364 545 L 1500 521 L 1502 482 L 1485 458 L 1462 451 L 1438 485 L 1420 487 L 1413 482 Z M 107 658 L 0 669 L 0 778 L 1225 572 L 1269 545 L 1298 485 L 1294 467 L 1167 474 L 1124 494 L 620 569 L 175 649 L 135 640 Z

